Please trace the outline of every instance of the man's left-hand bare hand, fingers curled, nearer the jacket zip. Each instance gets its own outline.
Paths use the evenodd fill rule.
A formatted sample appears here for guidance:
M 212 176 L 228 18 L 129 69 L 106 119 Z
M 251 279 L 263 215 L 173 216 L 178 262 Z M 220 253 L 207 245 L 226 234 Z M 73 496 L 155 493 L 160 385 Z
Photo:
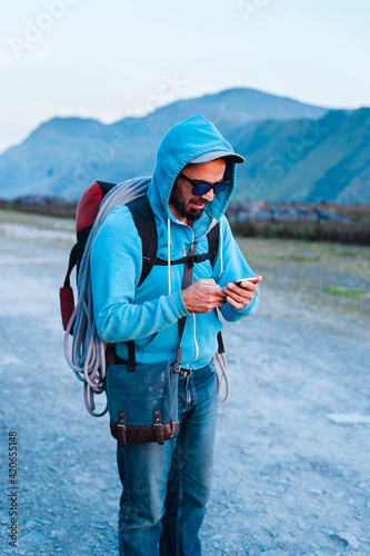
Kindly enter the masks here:
M 241 288 L 238 288 L 241 289 Z M 181 291 L 183 305 L 189 312 L 209 312 L 222 307 L 227 294 L 211 278 L 194 281 Z

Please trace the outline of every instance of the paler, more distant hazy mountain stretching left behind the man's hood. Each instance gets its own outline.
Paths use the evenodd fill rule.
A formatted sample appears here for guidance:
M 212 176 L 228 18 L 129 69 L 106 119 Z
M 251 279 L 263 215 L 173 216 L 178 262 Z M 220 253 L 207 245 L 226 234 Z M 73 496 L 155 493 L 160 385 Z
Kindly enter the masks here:
M 193 113 L 210 119 L 231 141 L 250 126 L 296 119 L 317 120 L 328 109 L 252 89 L 230 89 L 179 100 L 143 118 L 112 125 L 82 118 L 53 118 L 21 145 L 0 156 L 0 197 L 23 195 L 78 199 L 96 179 L 122 181 L 153 171 L 156 152 L 166 131 Z M 256 127 L 257 126 L 257 127 Z

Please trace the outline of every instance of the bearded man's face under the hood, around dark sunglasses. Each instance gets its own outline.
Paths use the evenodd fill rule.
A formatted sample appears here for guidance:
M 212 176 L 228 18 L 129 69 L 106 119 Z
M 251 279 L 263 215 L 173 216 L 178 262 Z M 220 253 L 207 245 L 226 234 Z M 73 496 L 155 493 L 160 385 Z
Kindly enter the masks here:
M 226 161 L 218 158 L 201 165 L 188 165 L 182 169 L 182 173 L 192 180 L 217 183 L 222 180 L 224 169 Z M 202 216 L 206 205 L 211 202 L 213 197 L 213 189 L 202 196 L 194 196 L 191 185 L 178 176 L 172 187 L 169 207 L 172 215 L 180 222 L 186 224 L 188 220 L 198 220 Z

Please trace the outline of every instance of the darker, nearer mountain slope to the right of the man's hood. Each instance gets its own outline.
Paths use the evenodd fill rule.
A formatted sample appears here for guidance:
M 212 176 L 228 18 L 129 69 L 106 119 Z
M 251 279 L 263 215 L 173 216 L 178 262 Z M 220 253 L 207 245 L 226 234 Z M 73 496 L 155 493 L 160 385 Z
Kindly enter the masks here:
M 236 130 L 238 200 L 370 205 L 370 108 Z

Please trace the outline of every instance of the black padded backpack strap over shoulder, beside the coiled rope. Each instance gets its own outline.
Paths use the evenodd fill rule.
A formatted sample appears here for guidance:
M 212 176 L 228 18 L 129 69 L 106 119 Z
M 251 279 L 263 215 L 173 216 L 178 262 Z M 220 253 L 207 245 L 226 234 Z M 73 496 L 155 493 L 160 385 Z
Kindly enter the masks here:
M 140 280 L 137 286 L 139 287 L 149 276 L 149 272 L 152 269 L 150 260 L 154 259 L 157 256 L 157 226 L 154 214 L 147 196 L 140 197 L 139 199 L 129 202 L 127 207 L 132 215 L 134 225 L 138 228 L 138 232 L 142 242 L 142 270 Z

